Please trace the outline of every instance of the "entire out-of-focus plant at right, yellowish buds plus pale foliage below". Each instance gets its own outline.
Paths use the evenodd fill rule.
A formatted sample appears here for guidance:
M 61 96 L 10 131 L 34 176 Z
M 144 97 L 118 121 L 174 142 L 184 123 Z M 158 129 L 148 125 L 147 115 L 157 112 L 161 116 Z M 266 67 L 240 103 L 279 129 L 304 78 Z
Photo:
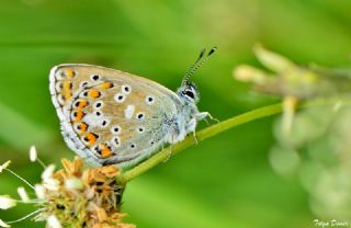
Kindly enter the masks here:
M 351 69 L 302 67 L 261 46 L 254 54 L 271 71 L 240 65 L 234 76 L 283 99 L 283 114 L 274 128 L 278 145 L 270 152 L 273 169 L 285 176 L 299 174 L 316 215 L 349 218 Z M 312 100 L 321 106 L 306 105 L 295 115 L 297 102 Z

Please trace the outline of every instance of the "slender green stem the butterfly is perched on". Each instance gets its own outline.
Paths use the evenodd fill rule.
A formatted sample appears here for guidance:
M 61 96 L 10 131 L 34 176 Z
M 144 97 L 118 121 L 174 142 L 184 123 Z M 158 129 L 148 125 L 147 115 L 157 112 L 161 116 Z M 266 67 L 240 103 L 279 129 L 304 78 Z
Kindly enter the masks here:
M 201 132 L 196 133 L 197 141 L 202 141 L 206 138 L 217 135 L 218 133 L 223 133 L 227 129 L 236 127 L 238 125 L 252 122 L 254 119 L 259 119 L 265 116 L 274 115 L 282 112 L 282 104 L 273 104 L 268 105 L 264 107 L 260 107 L 241 115 L 228 118 L 226 121 L 219 122 L 215 125 L 212 125 Z M 150 157 L 149 159 L 145 160 L 137 167 L 126 171 L 120 176 L 121 183 L 127 183 L 135 179 L 136 176 L 143 174 L 144 172 L 148 171 L 149 169 L 156 167 L 159 163 L 167 161 L 170 155 L 174 156 L 180 151 L 184 150 L 185 148 L 196 144 L 194 137 L 192 135 L 188 136 L 184 140 L 180 141 L 177 145 L 171 145 L 160 152 L 156 153 L 155 156 Z

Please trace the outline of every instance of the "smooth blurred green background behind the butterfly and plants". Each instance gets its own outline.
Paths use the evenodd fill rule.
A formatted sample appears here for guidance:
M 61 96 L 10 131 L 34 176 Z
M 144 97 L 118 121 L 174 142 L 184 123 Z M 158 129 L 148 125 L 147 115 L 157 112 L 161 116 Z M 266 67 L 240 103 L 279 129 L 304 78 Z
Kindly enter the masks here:
M 31 145 L 47 163 L 73 157 L 48 92 L 55 65 L 102 65 L 176 90 L 199 52 L 216 45 L 194 80 L 200 110 L 226 119 L 276 102 L 231 76 L 238 64 L 258 65 L 258 42 L 299 64 L 350 65 L 350 9 L 346 0 L 1 0 L 0 161 L 11 159 L 12 170 L 35 183 L 42 169 L 29 161 Z M 127 220 L 143 228 L 315 226 L 298 180 L 269 164 L 273 119 L 205 140 L 133 181 L 124 195 Z M 19 185 L 1 173 L 0 194 L 15 196 Z M 0 218 L 32 210 L 20 206 Z M 44 227 L 13 227 L 25 226 Z

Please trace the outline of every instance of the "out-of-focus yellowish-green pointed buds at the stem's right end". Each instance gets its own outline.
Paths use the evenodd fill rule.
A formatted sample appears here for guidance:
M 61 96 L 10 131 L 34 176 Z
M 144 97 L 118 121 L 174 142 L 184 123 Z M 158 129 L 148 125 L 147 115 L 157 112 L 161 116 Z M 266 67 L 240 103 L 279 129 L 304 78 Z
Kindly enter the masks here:
M 269 71 L 240 65 L 236 67 L 234 76 L 237 80 L 253 82 L 259 92 L 304 101 L 348 94 L 351 90 L 351 69 L 329 69 L 314 65 L 304 67 L 260 45 L 253 50 Z

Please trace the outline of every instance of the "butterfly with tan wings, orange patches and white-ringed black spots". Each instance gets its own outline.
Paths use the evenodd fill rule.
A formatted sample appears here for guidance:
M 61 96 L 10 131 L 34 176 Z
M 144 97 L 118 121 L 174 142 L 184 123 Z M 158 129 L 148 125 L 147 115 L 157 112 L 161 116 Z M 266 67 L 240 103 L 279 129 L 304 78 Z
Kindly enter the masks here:
M 203 49 L 173 92 L 120 70 L 84 64 L 63 64 L 49 73 L 49 91 L 64 140 L 92 166 L 131 168 L 195 134 L 197 87 L 191 76 L 215 53 Z

